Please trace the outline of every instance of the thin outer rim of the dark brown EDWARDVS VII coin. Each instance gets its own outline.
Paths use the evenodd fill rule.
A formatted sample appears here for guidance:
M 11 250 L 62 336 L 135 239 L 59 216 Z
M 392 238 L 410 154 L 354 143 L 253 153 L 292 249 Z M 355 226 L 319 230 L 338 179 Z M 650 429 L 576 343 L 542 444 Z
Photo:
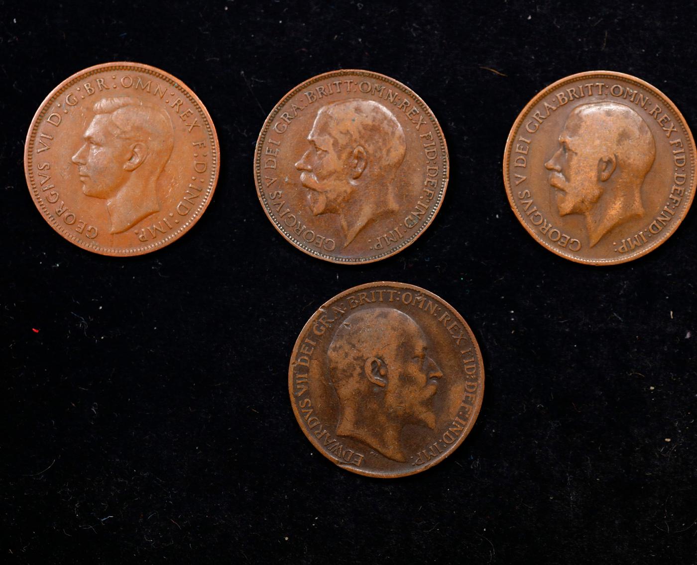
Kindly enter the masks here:
M 414 291 L 415 293 L 423 293 L 427 295 L 430 298 L 434 298 L 436 301 L 440 302 L 443 304 L 444 307 L 449 309 L 455 316 L 457 316 L 457 319 L 459 322 L 462 324 L 462 327 L 464 330 L 466 330 L 470 341 L 472 341 L 473 344 L 473 350 L 475 353 L 475 359 L 477 359 L 477 367 L 480 371 L 480 380 L 478 384 L 478 393 L 477 393 L 477 400 L 475 405 L 473 405 L 473 410 L 470 412 L 470 416 L 468 417 L 468 422 L 466 428 L 462 431 L 460 437 L 457 439 L 456 442 L 453 442 L 448 446 L 447 451 L 444 451 L 442 454 L 438 454 L 438 457 L 434 457 L 431 460 L 429 460 L 427 463 L 424 463 L 424 465 L 414 469 L 414 470 L 409 470 L 405 472 L 397 472 L 397 473 L 381 473 L 381 472 L 372 472 L 372 471 L 365 471 L 365 470 L 360 470 L 360 467 L 354 467 L 353 465 L 342 465 L 339 461 L 337 461 L 335 458 L 332 458 L 325 450 L 321 449 L 319 446 L 319 441 L 317 438 L 314 438 L 314 435 L 307 429 L 305 426 L 302 426 L 302 417 L 300 413 L 298 412 L 298 406 L 296 405 L 295 402 L 295 396 L 293 395 L 293 360 L 296 359 L 296 355 L 298 354 L 298 350 L 300 349 L 300 346 L 302 345 L 302 342 L 305 340 L 305 335 L 307 332 L 310 330 L 312 327 L 312 323 L 314 323 L 315 318 L 318 314 L 321 314 L 321 312 L 325 309 L 328 309 L 332 304 L 335 304 L 338 300 L 340 300 L 342 297 L 346 295 L 350 295 L 351 293 L 355 293 L 358 291 L 365 291 L 366 289 L 369 288 L 374 288 L 377 286 L 392 286 L 393 288 L 403 288 L 409 291 Z M 482 358 L 482 350 L 480 349 L 479 343 L 477 342 L 477 339 L 475 338 L 475 334 L 472 331 L 472 328 L 470 328 L 469 324 L 465 321 L 465 319 L 461 316 L 459 311 L 454 309 L 452 305 L 449 302 L 446 302 L 438 296 L 437 294 L 432 293 L 431 291 L 427 291 L 425 288 L 421 288 L 420 286 L 415 286 L 413 284 L 407 284 L 407 283 L 399 283 L 399 282 L 394 282 L 394 281 L 375 281 L 372 283 L 365 283 L 365 284 L 359 284 L 358 286 L 353 286 L 351 288 L 347 288 L 345 291 L 340 292 L 339 294 L 335 295 L 334 297 L 330 298 L 326 302 L 324 302 L 314 313 L 312 316 L 310 316 L 305 323 L 305 325 L 302 326 L 302 330 L 300 330 L 300 333 L 298 334 L 298 339 L 296 339 L 296 343 L 293 346 L 293 353 L 291 353 L 291 362 L 289 364 L 288 368 L 288 393 L 289 397 L 291 400 L 291 406 L 293 407 L 293 415 L 296 417 L 296 422 L 300 429 L 302 430 L 302 433 L 305 434 L 305 437 L 309 440 L 309 442 L 312 444 L 312 447 L 319 451 L 325 458 L 328 458 L 332 463 L 337 465 L 337 467 L 341 467 L 344 470 L 353 472 L 355 474 L 360 474 L 363 477 L 374 477 L 376 479 L 399 479 L 400 477 L 409 477 L 413 474 L 417 474 L 420 472 L 423 472 L 427 469 L 430 469 L 431 467 L 434 467 L 434 465 L 438 465 L 438 463 L 441 463 L 445 458 L 450 456 L 454 451 L 457 450 L 458 447 L 460 447 L 460 444 L 464 442 L 465 438 L 470 435 L 470 432 L 472 431 L 472 428 L 474 427 L 475 423 L 477 422 L 477 418 L 480 415 L 480 410 L 482 409 L 482 402 L 484 401 L 484 387 L 486 384 L 486 378 L 485 378 L 485 371 L 484 371 L 484 359 Z

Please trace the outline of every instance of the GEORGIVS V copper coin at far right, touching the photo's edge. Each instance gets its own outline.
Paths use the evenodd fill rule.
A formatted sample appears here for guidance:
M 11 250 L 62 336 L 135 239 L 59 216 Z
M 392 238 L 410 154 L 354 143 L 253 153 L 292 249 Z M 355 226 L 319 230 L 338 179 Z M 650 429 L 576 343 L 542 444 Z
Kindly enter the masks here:
M 680 225 L 695 144 L 673 102 L 621 72 L 571 75 L 516 119 L 503 158 L 511 207 L 550 251 L 590 265 L 631 261 Z

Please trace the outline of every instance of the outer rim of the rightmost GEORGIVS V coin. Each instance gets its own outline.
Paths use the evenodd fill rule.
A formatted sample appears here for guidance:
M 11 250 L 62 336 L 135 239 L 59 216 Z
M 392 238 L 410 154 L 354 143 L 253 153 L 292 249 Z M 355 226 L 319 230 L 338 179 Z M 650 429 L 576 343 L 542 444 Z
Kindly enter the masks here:
M 513 148 L 513 142 L 514 139 L 516 139 L 516 134 L 519 131 L 523 120 L 528 116 L 530 111 L 544 98 L 545 96 L 551 94 L 556 88 L 559 88 L 563 84 L 567 84 L 569 82 L 574 82 L 578 79 L 581 79 L 583 77 L 593 77 L 593 78 L 600 78 L 600 77 L 611 77 L 615 79 L 622 79 L 623 81 L 626 82 L 634 82 L 635 84 L 638 84 L 638 86 L 642 86 L 646 90 L 654 93 L 656 98 L 662 100 L 662 102 L 666 103 L 670 108 L 671 111 L 675 113 L 675 117 L 677 117 L 680 120 L 680 126 L 682 127 L 682 130 L 686 134 L 687 139 L 689 140 L 689 148 L 692 153 L 692 158 L 690 161 L 690 169 L 691 169 L 691 183 L 689 186 L 689 196 L 687 198 L 687 203 L 683 204 L 681 209 L 682 209 L 682 214 L 680 217 L 677 217 L 677 222 L 670 226 L 668 228 L 668 231 L 666 231 L 666 235 L 663 238 L 660 238 L 659 240 L 655 240 L 655 242 L 652 242 L 650 245 L 647 247 L 641 247 L 638 251 L 634 251 L 631 255 L 621 257 L 621 258 L 606 258 L 606 259 L 587 259 L 587 258 L 581 258 L 577 257 L 571 254 L 568 254 L 565 251 L 562 251 L 561 249 L 558 248 L 558 246 L 553 246 L 549 244 L 542 236 L 540 236 L 535 230 L 530 227 L 525 220 L 523 219 L 523 215 L 521 214 L 521 211 L 517 208 L 513 192 L 512 192 L 512 186 L 510 183 L 510 165 L 509 165 L 509 160 L 510 160 L 510 154 L 512 152 Z M 518 218 L 518 221 L 523 225 L 523 227 L 526 229 L 526 231 L 533 236 L 533 239 L 535 239 L 536 242 L 538 242 L 540 245 L 542 245 L 545 249 L 548 249 L 549 251 L 552 251 L 554 254 L 561 256 L 565 259 L 569 259 L 569 261 L 574 261 L 574 263 L 582 263 L 583 265 L 595 265 L 595 266 L 600 266 L 600 265 L 618 265 L 620 263 L 627 263 L 627 261 L 634 261 L 634 259 L 638 259 L 639 257 L 644 256 L 645 254 L 650 253 L 650 251 L 653 251 L 660 245 L 662 245 L 666 240 L 671 238 L 671 235 L 675 233 L 675 230 L 682 224 L 683 219 L 685 216 L 687 216 L 687 212 L 689 212 L 690 207 L 692 206 L 692 201 L 694 200 L 694 193 L 695 189 L 697 187 L 697 178 L 695 178 L 695 160 L 697 159 L 697 146 L 695 145 L 695 140 L 694 137 L 692 136 L 692 132 L 689 128 L 689 125 L 687 125 L 687 122 L 685 121 L 684 116 L 680 112 L 680 110 L 677 108 L 675 103 L 668 98 L 663 92 L 661 92 L 658 88 L 653 86 L 652 84 L 646 82 L 645 80 L 642 80 L 638 77 L 634 77 L 634 75 L 627 75 L 625 72 L 618 72 L 618 71 L 613 71 L 613 70 L 589 70 L 585 72 L 576 72 L 574 75 L 569 75 L 567 77 L 564 77 L 562 79 L 559 79 L 556 82 L 553 82 L 552 84 L 549 84 L 549 86 L 546 86 L 543 88 L 541 91 L 539 91 L 535 96 L 533 96 L 532 99 L 530 99 L 530 102 L 526 104 L 526 106 L 523 108 L 521 113 L 518 115 L 518 117 L 515 119 L 511 130 L 508 134 L 508 137 L 506 139 L 506 146 L 505 146 L 505 151 L 503 153 L 503 183 L 505 185 L 506 189 L 506 196 L 508 197 L 508 202 L 510 203 L 510 206 L 512 210 L 515 212 L 516 217 Z M 677 212 L 676 212 L 677 214 Z

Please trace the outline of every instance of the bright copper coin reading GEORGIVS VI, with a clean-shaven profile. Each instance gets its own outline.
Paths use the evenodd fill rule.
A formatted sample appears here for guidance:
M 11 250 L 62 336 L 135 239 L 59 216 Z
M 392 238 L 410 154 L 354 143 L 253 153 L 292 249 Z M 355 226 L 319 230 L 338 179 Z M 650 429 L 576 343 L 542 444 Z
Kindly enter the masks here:
M 26 136 L 36 207 L 68 241 L 103 255 L 160 249 L 197 222 L 219 170 L 213 121 L 169 73 L 95 65 L 43 101 Z

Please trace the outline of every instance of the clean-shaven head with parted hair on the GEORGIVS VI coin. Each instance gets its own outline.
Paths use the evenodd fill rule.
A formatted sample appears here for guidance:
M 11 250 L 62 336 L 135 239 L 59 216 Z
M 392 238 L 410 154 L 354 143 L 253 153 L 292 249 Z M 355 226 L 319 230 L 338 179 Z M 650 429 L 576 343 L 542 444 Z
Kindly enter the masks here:
M 105 199 L 111 233 L 122 233 L 160 210 L 157 181 L 174 147 L 167 113 L 121 96 L 97 102 L 72 156 L 87 196 Z

